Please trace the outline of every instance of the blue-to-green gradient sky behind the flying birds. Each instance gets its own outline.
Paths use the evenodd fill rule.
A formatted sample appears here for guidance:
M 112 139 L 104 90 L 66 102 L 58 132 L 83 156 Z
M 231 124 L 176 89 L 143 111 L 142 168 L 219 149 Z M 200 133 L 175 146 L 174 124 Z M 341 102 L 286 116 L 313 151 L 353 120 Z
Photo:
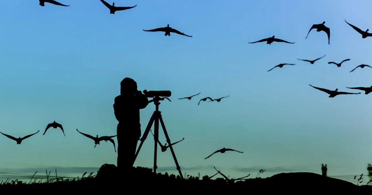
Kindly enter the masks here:
M 213 175 L 213 166 L 232 177 L 254 177 L 259 169 L 267 170 L 262 177 L 321 174 L 321 163 L 328 175 L 366 174 L 371 94 L 328 98 L 308 84 L 347 92 L 359 91 L 345 87 L 372 85 L 372 69 L 349 73 L 372 62 L 372 38 L 362 39 L 344 22 L 372 28 L 371 1 L 125 0 L 115 5 L 137 7 L 115 14 L 99 0 L 59 2 L 71 6 L 0 0 L 0 129 L 15 137 L 40 130 L 20 145 L 0 135 L 3 172 L 116 164 L 111 143 L 93 148 L 76 129 L 115 135 L 112 104 L 121 80 L 130 77 L 138 90 L 172 92 L 172 102 L 162 102 L 160 111 L 172 142 L 185 137 L 174 150 L 187 175 Z M 323 21 L 331 44 L 316 30 L 305 39 Z M 193 37 L 142 31 L 167 24 Z M 296 43 L 248 44 L 273 35 Z M 314 65 L 297 60 L 324 54 Z M 348 58 L 340 68 L 327 64 Z M 267 72 L 280 63 L 296 65 Z M 227 95 L 198 105 L 201 98 Z M 154 109 L 151 103 L 141 110 L 142 133 Z M 54 120 L 66 137 L 59 129 L 42 136 Z M 153 167 L 153 147 L 150 134 L 135 166 Z M 222 147 L 244 153 L 204 159 Z M 158 168 L 177 173 L 170 151 L 159 147 Z

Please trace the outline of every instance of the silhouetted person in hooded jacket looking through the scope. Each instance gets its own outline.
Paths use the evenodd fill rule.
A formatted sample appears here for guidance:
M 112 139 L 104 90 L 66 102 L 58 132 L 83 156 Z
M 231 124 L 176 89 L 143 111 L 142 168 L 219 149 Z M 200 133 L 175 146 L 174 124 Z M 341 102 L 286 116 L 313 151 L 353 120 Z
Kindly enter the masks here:
M 116 131 L 118 139 L 118 168 L 132 168 L 141 137 L 140 109 L 148 105 L 147 97 L 137 90 L 137 82 L 124 78 L 120 83 L 120 95 L 113 104 L 116 120 L 119 121 Z

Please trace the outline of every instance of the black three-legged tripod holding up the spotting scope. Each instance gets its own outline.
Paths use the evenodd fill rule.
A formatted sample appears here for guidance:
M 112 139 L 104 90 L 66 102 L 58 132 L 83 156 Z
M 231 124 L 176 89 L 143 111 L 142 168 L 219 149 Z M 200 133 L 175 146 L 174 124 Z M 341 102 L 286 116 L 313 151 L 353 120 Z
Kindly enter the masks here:
M 155 124 L 154 124 L 154 141 L 155 141 L 155 146 L 154 146 L 154 173 L 156 173 L 156 169 L 157 169 L 156 159 L 157 159 L 157 146 L 158 146 L 158 139 L 159 139 L 159 121 L 160 121 L 161 127 L 163 128 L 163 131 L 164 131 L 164 135 L 165 135 L 165 137 L 167 139 L 167 143 L 169 145 L 170 151 L 172 152 L 172 156 L 173 156 L 174 162 L 176 163 L 177 170 L 180 173 L 180 177 L 183 179 L 181 168 L 180 168 L 180 166 L 178 164 L 176 155 L 174 154 L 174 150 L 173 150 L 173 147 L 172 147 L 172 145 L 170 143 L 170 139 L 169 139 L 167 130 L 165 128 L 165 125 L 164 125 L 164 122 L 163 122 L 163 118 L 161 117 L 161 114 L 160 114 L 161 111 L 159 111 L 159 104 L 160 104 L 159 101 L 160 100 L 164 100 L 165 98 L 167 100 L 169 100 L 167 97 L 160 98 L 159 96 L 155 96 L 153 98 L 153 100 L 150 100 L 149 101 L 149 103 L 154 102 L 154 104 L 155 104 L 155 111 L 153 113 L 153 116 L 151 116 L 150 121 L 147 124 L 146 130 L 143 133 L 143 136 L 140 139 L 141 140 L 141 143 L 140 143 L 140 146 L 138 146 L 136 155 L 134 157 L 134 161 L 137 159 L 137 156 L 138 156 L 138 153 L 140 153 L 142 144 L 146 140 L 146 138 L 148 136 L 148 133 L 150 132 L 150 128 L 151 128 L 151 126 L 153 126 L 153 123 L 155 122 Z M 133 162 L 133 164 L 134 164 L 134 162 Z

